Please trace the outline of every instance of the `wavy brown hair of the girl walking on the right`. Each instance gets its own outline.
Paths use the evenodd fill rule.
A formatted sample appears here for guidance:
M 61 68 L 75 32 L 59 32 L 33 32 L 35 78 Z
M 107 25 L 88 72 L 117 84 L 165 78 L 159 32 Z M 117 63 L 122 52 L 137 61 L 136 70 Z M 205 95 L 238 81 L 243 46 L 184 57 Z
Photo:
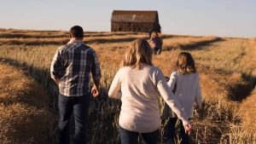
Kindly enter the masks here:
M 181 52 L 177 58 L 177 72 L 182 74 L 195 73 L 195 60 L 189 52 Z

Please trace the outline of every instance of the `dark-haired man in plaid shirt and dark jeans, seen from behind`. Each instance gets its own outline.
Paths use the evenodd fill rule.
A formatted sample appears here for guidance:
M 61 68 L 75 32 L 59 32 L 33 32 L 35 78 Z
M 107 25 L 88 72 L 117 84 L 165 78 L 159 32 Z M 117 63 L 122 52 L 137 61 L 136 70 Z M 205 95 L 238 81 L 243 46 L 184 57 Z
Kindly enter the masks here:
M 50 66 L 50 76 L 59 86 L 59 143 L 68 143 L 68 124 L 73 113 L 75 119 L 73 143 L 84 144 L 90 95 L 99 94 L 101 70 L 96 52 L 82 41 L 83 28 L 73 26 L 69 37 L 70 41 L 56 50 Z M 90 89 L 90 73 L 94 81 L 92 89 Z

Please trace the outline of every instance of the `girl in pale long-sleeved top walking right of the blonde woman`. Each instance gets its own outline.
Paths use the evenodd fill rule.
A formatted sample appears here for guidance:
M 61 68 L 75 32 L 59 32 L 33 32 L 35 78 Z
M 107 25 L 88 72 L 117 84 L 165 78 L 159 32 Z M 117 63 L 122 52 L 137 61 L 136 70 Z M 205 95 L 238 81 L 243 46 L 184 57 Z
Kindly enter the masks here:
M 193 115 L 194 106 L 201 107 L 201 88 L 199 75 L 195 69 L 195 61 L 188 52 L 182 52 L 178 55 L 177 71 L 172 72 L 168 81 L 168 86 L 172 89 L 177 101 L 183 109 L 186 118 Z M 167 107 L 169 109 L 169 107 Z M 166 109 L 166 107 L 165 107 Z M 168 141 L 174 142 L 175 125 L 179 120 L 179 129 L 181 143 L 189 143 L 189 135 L 183 129 L 183 122 L 177 118 L 176 113 L 170 112 L 171 118 L 167 123 Z

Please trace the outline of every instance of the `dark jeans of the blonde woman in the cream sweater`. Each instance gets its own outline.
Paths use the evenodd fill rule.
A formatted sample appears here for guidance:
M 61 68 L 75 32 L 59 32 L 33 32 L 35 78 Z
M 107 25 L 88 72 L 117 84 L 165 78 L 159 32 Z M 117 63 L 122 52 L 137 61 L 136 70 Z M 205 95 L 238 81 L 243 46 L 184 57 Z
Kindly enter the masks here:
M 157 144 L 160 131 L 155 130 L 150 133 L 138 133 L 135 131 L 125 130 L 124 128 L 119 126 L 119 134 L 121 138 L 121 144 L 137 144 L 140 134 L 143 137 L 143 144 Z

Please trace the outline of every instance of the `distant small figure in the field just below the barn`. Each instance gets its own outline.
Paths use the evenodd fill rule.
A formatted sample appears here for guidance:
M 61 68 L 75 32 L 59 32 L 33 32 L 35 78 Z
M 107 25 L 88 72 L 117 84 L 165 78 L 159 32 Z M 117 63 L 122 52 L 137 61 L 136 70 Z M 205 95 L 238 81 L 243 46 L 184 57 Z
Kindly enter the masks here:
M 160 55 L 162 51 L 163 41 L 162 41 L 162 38 L 158 36 L 158 32 L 155 32 L 155 31 L 151 32 L 148 43 L 150 43 L 151 41 L 153 43 L 152 47 L 154 49 L 154 55 L 156 55 L 157 53 L 158 55 Z

